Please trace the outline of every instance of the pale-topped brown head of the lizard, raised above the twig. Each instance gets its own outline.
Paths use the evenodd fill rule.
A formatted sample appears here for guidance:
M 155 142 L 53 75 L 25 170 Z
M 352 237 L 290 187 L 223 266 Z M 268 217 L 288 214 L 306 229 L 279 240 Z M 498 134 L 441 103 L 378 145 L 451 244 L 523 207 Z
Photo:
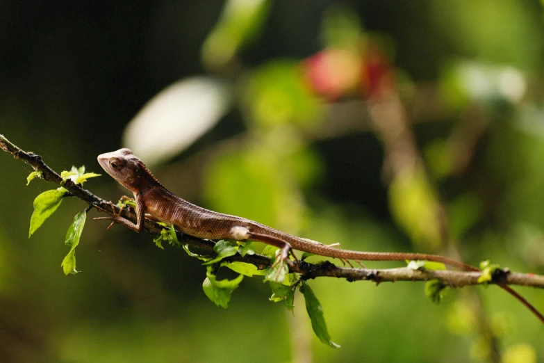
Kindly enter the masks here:
M 145 175 L 149 173 L 144 163 L 130 149 L 119 149 L 98 156 L 100 166 L 133 193 L 140 193 L 145 186 Z M 146 173 L 147 172 L 147 173 Z

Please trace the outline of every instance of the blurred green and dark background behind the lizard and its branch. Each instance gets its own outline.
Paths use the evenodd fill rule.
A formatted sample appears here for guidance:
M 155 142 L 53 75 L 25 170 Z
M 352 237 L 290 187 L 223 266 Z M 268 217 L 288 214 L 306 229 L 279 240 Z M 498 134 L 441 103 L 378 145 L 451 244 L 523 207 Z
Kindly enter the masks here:
M 544 273 L 539 1 L 6 0 L 0 29 L 0 134 L 58 172 L 131 147 L 181 197 L 292 234 Z M 293 317 L 246 278 L 216 307 L 200 261 L 119 226 L 88 220 L 65 276 L 85 205 L 28 239 L 56 188 L 29 172 L 0 153 L 2 362 L 544 360 L 541 324 L 496 287 L 435 305 L 420 283 L 311 281 L 332 349 L 301 296 Z

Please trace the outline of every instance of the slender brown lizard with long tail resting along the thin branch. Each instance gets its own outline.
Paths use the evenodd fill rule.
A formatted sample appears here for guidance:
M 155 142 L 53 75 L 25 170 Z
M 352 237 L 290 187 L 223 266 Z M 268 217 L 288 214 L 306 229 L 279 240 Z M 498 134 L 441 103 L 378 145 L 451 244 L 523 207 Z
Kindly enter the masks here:
M 292 236 L 254 220 L 211 211 L 183 200 L 160 184 L 138 156 L 127 148 L 100 154 L 97 159 L 100 166 L 113 179 L 133 193 L 137 222 L 134 224 L 119 213 L 115 216 L 94 219 L 112 220 L 113 223 L 124 225 L 135 232 L 144 230 L 145 218 L 149 216 L 167 225 L 174 225 L 184 234 L 201 239 L 257 241 L 274 245 L 280 248 L 275 264 L 281 264 L 283 261 L 290 262 L 289 254 L 296 260 L 292 253 L 294 249 L 313 255 L 337 258 L 348 263 L 349 260 L 358 263 L 361 263 L 360 261 L 425 260 L 440 262 L 465 271 L 479 271 L 478 268 L 439 255 L 342 250 L 311 239 Z

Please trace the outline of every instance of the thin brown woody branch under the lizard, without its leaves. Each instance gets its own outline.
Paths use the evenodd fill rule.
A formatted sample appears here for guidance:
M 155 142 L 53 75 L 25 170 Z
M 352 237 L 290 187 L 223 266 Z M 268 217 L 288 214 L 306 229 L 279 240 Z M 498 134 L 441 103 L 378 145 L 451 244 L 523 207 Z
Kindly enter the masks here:
M 62 185 L 66 188 L 74 197 L 77 197 L 84 202 L 88 203 L 91 207 L 99 207 L 104 209 L 110 214 L 119 213 L 119 208 L 111 202 L 94 195 L 90 191 L 83 189 L 74 181 L 67 179 L 63 180 L 60 175 L 49 168 L 42 160 L 42 156 L 34 154 L 32 152 L 24 152 L 19 147 L 10 143 L 10 141 L 0 134 L 0 148 L 12 154 L 15 159 L 19 159 L 32 166 L 34 170 L 42 172 L 41 178 L 46 181 L 53 181 L 56 184 Z M 135 212 L 132 209 L 123 209 L 121 215 L 133 222 L 136 220 Z M 153 221 L 145 220 L 145 230 L 151 235 L 158 235 L 163 229 L 162 226 L 154 223 Z M 194 236 L 182 234 L 176 231 L 180 241 L 184 244 L 191 245 L 199 250 L 213 254 L 213 247 L 215 242 L 206 239 L 199 239 Z M 270 258 L 263 255 L 234 255 L 224 259 L 226 262 L 240 261 L 248 264 L 253 264 L 258 269 L 264 269 L 270 266 Z M 479 272 L 470 271 L 445 271 L 445 270 L 413 270 L 411 268 L 386 268 L 386 269 L 372 269 L 372 268 L 346 268 L 339 267 L 332 264 L 329 261 L 320 262 L 317 264 L 310 264 L 306 261 L 299 261 L 299 263 L 291 263 L 290 271 L 299 273 L 304 280 L 314 279 L 316 277 L 336 277 L 345 278 L 348 281 L 356 280 L 369 280 L 376 282 L 395 282 L 395 281 L 429 281 L 440 280 L 450 287 L 464 287 L 466 285 L 481 284 L 478 282 L 478 277 L 481 275 Z M 522 285 L 527 287 L 544 288 L 544 275 L 535 275 L 532 273 L 515 273 L 509 271 L 507 268 L 497 270 L 493 274 L 491 282 L 488 284 L 506 284 L 506 285 Z

